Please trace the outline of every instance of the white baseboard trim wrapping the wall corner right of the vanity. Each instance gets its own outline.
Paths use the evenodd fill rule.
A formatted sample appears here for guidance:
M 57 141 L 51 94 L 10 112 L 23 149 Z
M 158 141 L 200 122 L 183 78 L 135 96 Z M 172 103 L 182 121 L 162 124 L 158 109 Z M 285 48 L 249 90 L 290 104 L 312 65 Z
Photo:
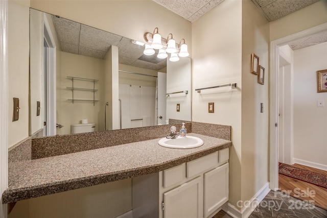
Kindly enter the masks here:
M 248 201 L 248 206 L 244 206 L 241 210 L 239 210 L 237 207 L 227 202 L 222 206 L 222 210 L 234 218 L 247 218 L 250 216 L 256 206 L 258 206 L 267 196 L 269 191 L 269 183 L 267 182 L 258 192 L 256 192 L 253 198 Z

